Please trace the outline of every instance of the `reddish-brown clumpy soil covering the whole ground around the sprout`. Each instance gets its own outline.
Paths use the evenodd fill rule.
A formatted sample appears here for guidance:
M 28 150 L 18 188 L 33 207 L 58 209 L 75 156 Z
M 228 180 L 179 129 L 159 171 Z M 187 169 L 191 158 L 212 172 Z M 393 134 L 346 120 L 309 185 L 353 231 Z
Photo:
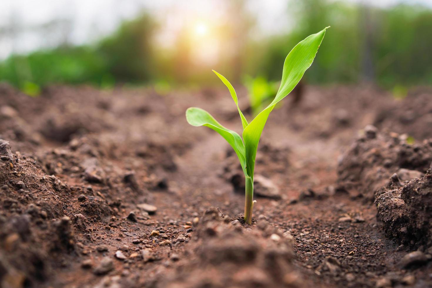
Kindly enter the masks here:
M 184 117 L 239 131 L 225 90 L 1 84 L 0 286 L 431 287 L 431 89 L 302 92 L 267 121 L 247 225 L 235 155 Z

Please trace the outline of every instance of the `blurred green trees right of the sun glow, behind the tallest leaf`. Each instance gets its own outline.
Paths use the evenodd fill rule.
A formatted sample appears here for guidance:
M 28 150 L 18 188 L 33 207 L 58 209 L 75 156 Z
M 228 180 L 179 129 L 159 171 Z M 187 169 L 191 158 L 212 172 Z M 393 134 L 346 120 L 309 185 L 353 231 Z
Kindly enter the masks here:
M 289 12 L 295 25 L 287 35 L 273 36 L 255 50 L 249 73 L 270 80 L 279 76 L 278 59 L 319 27 L 331 25 L 328 45 L 308 72 L 309 83 L 375 82 L 394 85 L 432 83 L 432 10 L 423 6 L 397 5 L 376 8 L 357 3 L 325 0 L 291 0 Z M 288 39 L 288 40 L 287 40 Z M 422 60 L 418 57 L 421 55 Z

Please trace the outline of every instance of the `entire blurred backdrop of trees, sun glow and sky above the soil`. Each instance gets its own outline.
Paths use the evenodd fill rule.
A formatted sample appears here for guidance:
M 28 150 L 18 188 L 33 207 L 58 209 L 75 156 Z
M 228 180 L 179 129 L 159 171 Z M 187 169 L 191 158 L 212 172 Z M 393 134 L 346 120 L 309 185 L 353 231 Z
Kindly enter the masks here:
M 219 85 L 214 69 L 271 93 L 292 47 L 329 25 L 305 82 L 432 84 L 432 0 L 2 0 L 0 81 L 167 92 Z

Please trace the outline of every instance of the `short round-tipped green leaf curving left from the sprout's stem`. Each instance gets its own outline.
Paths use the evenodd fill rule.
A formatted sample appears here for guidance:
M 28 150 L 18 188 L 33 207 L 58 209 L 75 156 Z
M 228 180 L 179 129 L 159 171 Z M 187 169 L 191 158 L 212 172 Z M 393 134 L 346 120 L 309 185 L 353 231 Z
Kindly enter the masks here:
M 219 133 L 234 149 L 240 161 L 241 168 L 243 168 L 243 172 L 246 175 L 245 145 L 238 133 L 223 127 L 210 113 L 197 107 L 187 108 L 186 120 L 192 126 L 206 126 Z

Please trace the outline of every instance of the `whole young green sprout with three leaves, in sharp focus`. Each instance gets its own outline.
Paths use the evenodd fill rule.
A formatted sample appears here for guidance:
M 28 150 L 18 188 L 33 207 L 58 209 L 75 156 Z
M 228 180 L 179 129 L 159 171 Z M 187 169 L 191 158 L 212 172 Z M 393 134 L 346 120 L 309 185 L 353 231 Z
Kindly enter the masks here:
M 246 178 L 245 221 L 248 224 L 251 224 L 252 222 L 252 209 L 256 202 L 253 200 L 255 156 L 257 155 L 258 142 L 260 141 L 264 125 L 266 124 L 267 118 L 275 105 L 285 98 L 292 89 L 294 89 L 295 85 L 297 85 L 300 79 L 302 79 L 305 71 L 312 65 L 327 28 L 329 27 L 324 28 L 316 34 L 308 36 L 292 48 L 283 64 L 282 81 L 275 98 L 251 121 L 251 123 L 248 123 L 238 107 L 237 94 L 235 93 L 231 83 L 224 76 L 213 70 L 213 72 L 216 73 L 229 89 L 231 97 L 237 106 L 238 114 L 240 114 L 241 124 L 243 126 L 243 139 L 238 133 L 223 127 L 207 111 L 196 107 L 191 107 L 186 110 L 186 119 L 189 124 L 197 127 L 206 126 L 215 130 L 229 143 L 237 154 Z

